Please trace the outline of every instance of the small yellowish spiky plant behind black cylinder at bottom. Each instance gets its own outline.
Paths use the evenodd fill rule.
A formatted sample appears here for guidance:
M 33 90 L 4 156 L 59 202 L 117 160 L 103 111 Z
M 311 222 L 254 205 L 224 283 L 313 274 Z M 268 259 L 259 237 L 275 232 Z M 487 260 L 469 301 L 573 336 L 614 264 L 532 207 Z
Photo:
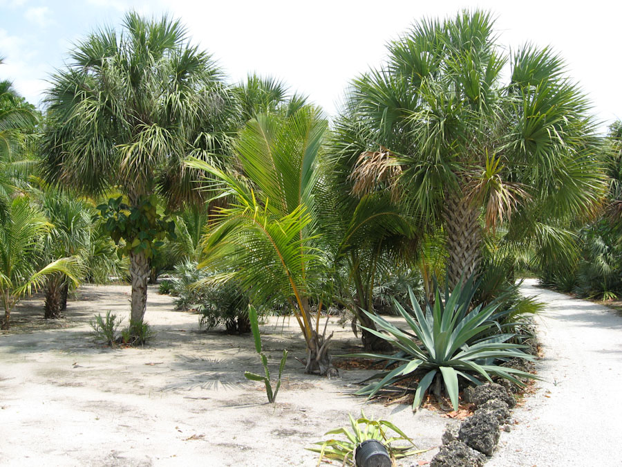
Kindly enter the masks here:
M 382 443 L 386 448 L 391 462 L 395 465 L 395 459 L 401 459 L 402 457 L 420 454 L 424 450 L 415 450 L 415 444 L 406 436 L 406 434 L 397 428 L 397 426 L 386 420 L 371 420 L 365 416 L 363 410 L 361 410 L 361 417 L 357 420 L 349 414 L 350 425 L 352 431 L 348 430 L 348 427 L 337 428 L 337 430 L 330 430 L 326 432 L 328 434 L 343 434 L 347 439 L 341 441 L 339 439 L 327 439 L 326 441 L 319 441 L 316 444 L 319 448 L 307 448 L 313 452 L 319 452 L 320 457 L 317 462 L 319 466 L 323 460 L 337 460 L 341 461 L 343 466 L 355 466 L 355 451 L 364 441 L 375 439 Z M 391 433 L 393 431 L 393 433 Z M 410 443 L 408 446 L 393 446 L 395 441 L 406 441 Z M 403 444 L 403 443 L 402 443 Z

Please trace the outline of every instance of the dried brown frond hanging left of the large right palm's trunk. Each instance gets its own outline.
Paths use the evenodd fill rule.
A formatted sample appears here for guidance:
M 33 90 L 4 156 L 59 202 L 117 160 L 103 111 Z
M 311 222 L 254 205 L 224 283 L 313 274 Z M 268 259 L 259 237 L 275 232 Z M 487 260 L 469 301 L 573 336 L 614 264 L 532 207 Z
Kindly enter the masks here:
M 390 190 L 391 198 L 397 201 L 400 174 L 402 167 L 397 163 L 395 154 L 381 146 L 379 151 L 362 152 L 348 179 L 354 181 L 352 194 L 359 198 L 375 190 L 386 189 Z

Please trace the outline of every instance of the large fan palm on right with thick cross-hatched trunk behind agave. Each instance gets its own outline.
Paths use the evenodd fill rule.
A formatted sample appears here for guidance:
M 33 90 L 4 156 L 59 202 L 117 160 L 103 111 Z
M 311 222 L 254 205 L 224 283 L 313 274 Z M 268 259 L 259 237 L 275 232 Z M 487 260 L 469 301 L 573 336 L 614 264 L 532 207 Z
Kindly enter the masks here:
M 383 178 L 442 228 L 451 286 L 478 271 L 484 230 L 511 219 L 517 240 L 536 219 L 589 209 L 602 190 L 590 106 L 563 61 L 530 45 L 506 54 L 493 26 L 479 10 L 420 21 L 352 83 L 341 116 L 363 127 L 368 152 L 354 190 Z

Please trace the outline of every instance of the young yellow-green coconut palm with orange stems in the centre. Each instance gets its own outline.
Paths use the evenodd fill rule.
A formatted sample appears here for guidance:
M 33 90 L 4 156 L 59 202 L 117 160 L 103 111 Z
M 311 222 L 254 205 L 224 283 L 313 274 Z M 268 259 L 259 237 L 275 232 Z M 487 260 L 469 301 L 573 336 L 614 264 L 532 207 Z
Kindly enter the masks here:
M 317 248 L 315 215 L 325 131 L 326 120 L 311 107 L 290 116 L 265 114 L 247 123 L 236 144 L 246 177 L 188 161 L 224 185 L 232 199 L 209 228 L 200 266 L 232 271 L 209 280 L 234 278 L 255 304 L 289 303 L 307 345 L 306 371 L 319 374 L 330 370 L 332 337 L 319 330 L 328 262 Z

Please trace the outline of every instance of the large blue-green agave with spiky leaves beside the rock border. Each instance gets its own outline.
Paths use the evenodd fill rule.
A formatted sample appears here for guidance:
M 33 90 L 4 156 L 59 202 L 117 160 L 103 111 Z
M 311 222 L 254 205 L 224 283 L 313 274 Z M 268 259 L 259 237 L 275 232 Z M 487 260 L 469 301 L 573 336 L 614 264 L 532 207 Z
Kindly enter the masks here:
M 534 378 L 527 372 L 496 365 L 498 360 L 525 358 L 534 360 L 521 350 L 525 346 L 508 343 L 516 336 L 514 333 L 500 333 L 498 320 L 514 313 L 513 307 L 502 310 L 504 297 L 490 304 L 471 307 L 471 300 L 477 289 L 473 279 L 462 285 L 460 282 L 450 293 L 445 289 L 442 300 L 440 289 L 435 284 L 435 300 L 426 303 L 426 311 L 409 291 L 412 309 L 406 310 L 394 301 L 395 309 L 402 315 L 409 331 L 402 331 L 394 324 L 365 312 L 376 323 L 377 336 L 388 340 L 399 351 L 393 356 L 381 354 L 356 354 L 367 358 L 387 359 L 397 367 L 387 369 L 369 378 L 379 381 L 370 383 L 357 391 L 357 394 L 375 396 L 381 389 L 395 385 L 406 378 L 420 376 L 415 390 L 413 410 L 421 405 L 424 395 L 435 382 L 435 393 L 442 394 L 442 387 L 449 394 L 454 410 L 458 410 L 458 377 L 475 385 L 482 380 L 492 381 L 492 376 L 505 378 L 516 385 L 524 385 L 520 378 Z M 502 310 L 502 311 L 500 311 Z

